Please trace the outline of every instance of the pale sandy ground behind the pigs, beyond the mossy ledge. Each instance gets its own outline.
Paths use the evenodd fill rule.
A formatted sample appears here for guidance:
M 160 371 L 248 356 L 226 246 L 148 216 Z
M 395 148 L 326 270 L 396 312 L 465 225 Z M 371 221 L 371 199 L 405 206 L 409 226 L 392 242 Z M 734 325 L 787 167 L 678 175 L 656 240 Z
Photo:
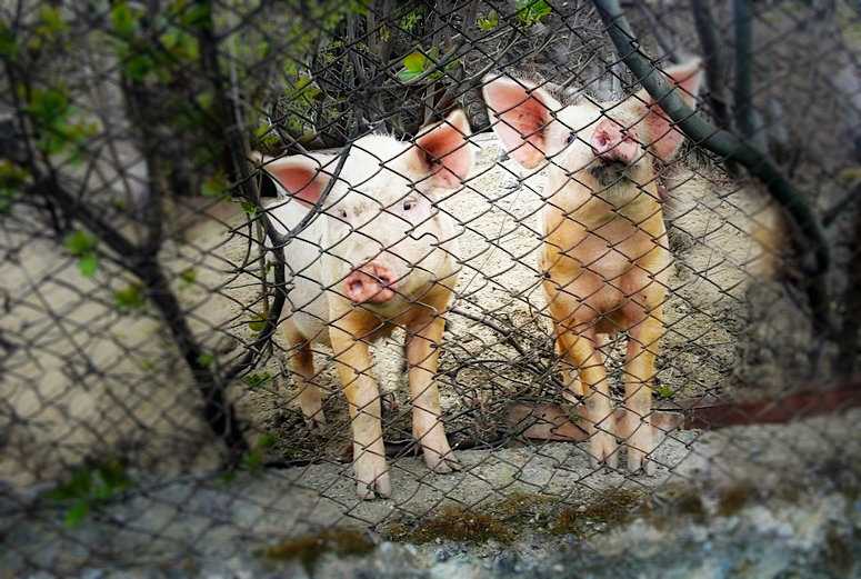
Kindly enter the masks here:
M 449 315 L 439 376 L 451 438 L 472 443 L 508 436 L 503 412 L 511 399 L 559 401 L 545 378 L 523 369 L 522 358 L 498 331 L 470 319 L 513 329 L 534 360 L 552 367 L 534 270 L 542 176 L 522 180 L 512 160 L 500 160 L 491 134 L 475 136 L 474 142 L 472 177 L 445 202 L 462 228 L 462 270 L 452 306 L 467 316 Z M 778 230 L 769 229 L 774 212 L 749 188 L 733 189 L 695 169 L 701 164 L 681 159 L 664 179 L 675 271 L 655 383 L 670 398 L 787 392 L 802 378 L 798 369 L 810 333 L 784 287 L 758 277 L 773 270 L 777 254 L 763 254 L 751 233 L 764 229 L 779 251 Z M 154 309 L 118 311 L 113 305 L 114 291 L 133 280 L 108 262 L 92 278 L 81 277 L 72 257 L 33 236 L 38 223 L 20 217 L 14 227 L 7 220 L 0 232 L 7 256 L 0 264 L 7 312 L 0 330 L 14 346 L 0 382 L 0 477 L 26 487 L 53 480 L 84 459 L 114 456 L 153 472 L 212 469 L 220 447 L 198 417 L 199 396 Z M 243 221 L 237 204 L 210 203 L 162 253 L 189 323 L 213 363 L 227 365 L 242 353 L 253 332 L 248 322 L 266 309 L 249 264 L 257 257 L 249 241 L 254 231 Z M 183 279 L 187 271 L 194 272 L 193 280 Z M 393 402 L 384 420 L 389 442 L 410 439 L 399 339 L 396 335 L 377 347 L 381 387 Z M 605 347 L 617 388 L 622 349 L 619 339 Z M 346 403 L 330 356 L 326 349 L 317 356 L 317 380 L 329 392 L 332 427 L 326 437 L 302 423 L 280 337 L 272 356 L 253 371 L 271 379 L 253 388 L 242 381 L 231 387 L 251 443 L 263 435 L 276 438 L 268 460 L 343 452 Z

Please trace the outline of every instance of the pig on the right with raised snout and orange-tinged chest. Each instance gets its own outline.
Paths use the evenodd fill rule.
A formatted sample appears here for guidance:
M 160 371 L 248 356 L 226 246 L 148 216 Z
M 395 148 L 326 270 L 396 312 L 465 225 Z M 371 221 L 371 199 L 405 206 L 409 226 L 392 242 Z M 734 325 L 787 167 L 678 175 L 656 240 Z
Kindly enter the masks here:
M 689 104 L 699 61 L 665 71 Z M 619 466 L 617 437 L 631 472 L 653 475 L 651 381 L 663 335 L 671 254 L 654 162 L 669 160 L 683 136 L 641 90 L 619 102 L 563 106 L 524 80 L 484 79 L 493 130 L 527 169 L 548 164 L 538 270 L 553 323 L 567 400 L 590 435 L 592 457 Z M 623 418 L 617 425 L 600 336 L 627 331 Z

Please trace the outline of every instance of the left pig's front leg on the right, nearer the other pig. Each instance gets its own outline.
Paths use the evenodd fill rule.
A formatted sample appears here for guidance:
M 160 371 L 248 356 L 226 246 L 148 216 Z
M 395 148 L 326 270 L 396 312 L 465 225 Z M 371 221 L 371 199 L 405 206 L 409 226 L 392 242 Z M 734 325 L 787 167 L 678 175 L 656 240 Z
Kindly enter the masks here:
M 460 470 L 440 420 L 440 395 L 437 388 L 439 346 L 445 320 L 424 317 L 407 327 L 407 363 L 410 368 L 412 396 L 412 436 L 421 445 L 424 462 L 434 472 Z

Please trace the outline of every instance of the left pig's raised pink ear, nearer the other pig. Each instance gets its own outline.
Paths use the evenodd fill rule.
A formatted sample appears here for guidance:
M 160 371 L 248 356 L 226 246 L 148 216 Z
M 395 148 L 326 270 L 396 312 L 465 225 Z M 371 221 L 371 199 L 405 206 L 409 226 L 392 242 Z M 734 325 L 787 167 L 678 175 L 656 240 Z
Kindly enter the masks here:
M 429 178 L 432 187 L 457 189 L 467 179 L 472 168 L 472 147 L 468 140 L 471 133 L 467 114 L 455 110 L 416 138 L 412 151 L 420 163 L 419 172 L 432 172 Z

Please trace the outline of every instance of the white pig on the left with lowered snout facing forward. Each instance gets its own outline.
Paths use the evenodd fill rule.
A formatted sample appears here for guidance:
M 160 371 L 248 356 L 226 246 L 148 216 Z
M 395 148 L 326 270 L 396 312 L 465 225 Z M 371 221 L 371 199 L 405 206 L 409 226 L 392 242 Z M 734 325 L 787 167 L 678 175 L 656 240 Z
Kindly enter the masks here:
M 292 289 L 282 321 L 299 406 L 323 427 L 313 383 L 312 346 L 332 348 L 352 428 L 353 468 L 362 499 L 389 497 L 380 392 L 369 346 L 406 330 L 413 437 L 434 472 L 460 469 L 440 419 L 439 346 L 458 272 L 453 218 L 438 202 L 472 167 L 469 121 L 455 110 L 414 142 L 384 134 L 358 139 L 322 212 L 286 247 Z M 332 156 L 284 157 L 264 164 L 287 192 L 269 209 L 283 233 L 316 203 L 337 166 Z

